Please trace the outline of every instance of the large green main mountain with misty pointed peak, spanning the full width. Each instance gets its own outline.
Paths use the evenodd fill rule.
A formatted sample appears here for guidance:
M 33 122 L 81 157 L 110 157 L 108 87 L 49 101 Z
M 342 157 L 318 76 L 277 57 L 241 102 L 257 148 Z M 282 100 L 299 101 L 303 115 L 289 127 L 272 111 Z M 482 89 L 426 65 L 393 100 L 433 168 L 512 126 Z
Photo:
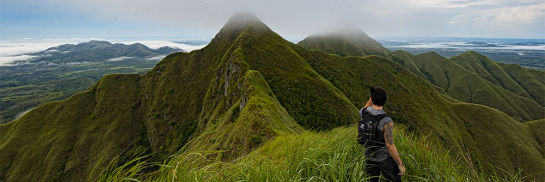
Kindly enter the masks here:
M 162 161 L 185 146 L 225 151 L 216 158 L 232 161 L 308 130 L 344 134 L 331 129 L 358 120 L 372 85 L 389 93 L 393 120 L 445 149 L 469 151 L 485 168 L 544 177 L 543 143 L 531 124 L 455 101 L 390 59 L 311 51 L 254 15 L 236 14 L 202 49 L 168 55 L 143 76 L 106 76 L 1 124 L 0 180 L 93 180 L 118 153 L 123 163 L 148 149 Z

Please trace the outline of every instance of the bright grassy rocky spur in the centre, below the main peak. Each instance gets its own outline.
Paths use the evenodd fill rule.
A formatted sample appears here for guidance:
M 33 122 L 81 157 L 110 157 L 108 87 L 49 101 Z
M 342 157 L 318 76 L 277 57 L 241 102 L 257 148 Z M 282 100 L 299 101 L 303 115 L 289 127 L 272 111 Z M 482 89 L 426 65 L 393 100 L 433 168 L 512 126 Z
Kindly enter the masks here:
M 190 145 L 189 150 L 226 150 L 220 159 L 234 159 L 274 136 L 303 131 L 258 71 L 247 71 L 239 83 L 239 101 L 223 117 L 207 123 L 205 134 L 195 141 L 198 145 Z

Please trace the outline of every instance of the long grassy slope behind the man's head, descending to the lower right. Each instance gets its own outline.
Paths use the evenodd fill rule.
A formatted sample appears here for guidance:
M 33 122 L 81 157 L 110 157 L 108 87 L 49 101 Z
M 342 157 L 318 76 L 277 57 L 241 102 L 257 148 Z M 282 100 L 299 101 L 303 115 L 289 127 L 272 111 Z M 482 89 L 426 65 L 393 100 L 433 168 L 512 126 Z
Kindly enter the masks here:
M 494 164 L 506 168 L 518 166 L 531 173 L 542 173 L 540 170 L 543 170 L 545 160 L 538 153 L 536 141 L 531 139 L 529 131 L 522 127 L 523 124 L 502 112 L 481 105 L 454 104 L 446 101 L 438 92 L 426 87 L 425 81 L 418 79 L 414 74 L 409 74 L 401 65 L 384 58 L 341 59 L 328 54 L 305 53 L 308 51 L 303 48 L 300 48 L 300 51 L 301 57 L 304 57 L 314 70 L 343 91 L 354 105 L 365 104 L 368 96 L 361 93 L 365 93 L 368 86 L 380 85 L 389 91 L 386 110 L 392 113 L 391 116 L 395 121 L 408 124 L 421 132 L 433 132 L 434 136 L 438 137 L 439 141 L 445 142 L 447 146 L 468 149 L 485 165 Z M 490 116 L 483 118 L 481 117 L 483 114 L 458 112 L 462 108 L 481 111 Z M 506 128 L 504 127 L 506 124 L 517 129 Z M 489 137 L 477 135 L 480 133 L 485 133 Z M 517 146 L 504 148 L 496 143 L 497 139 L 506 135 L 520 135 L 513 139 L 517 142 L 508 144 Z M 522 160 L 518 159 L 518 156 L 504 155 L 511 154 L 512 151 L 527 153 L 532 157 L 525 158 L 528 156 L 525 155 L 525 159 Z M 505 158 L 498 161 L 496 156 Z M 505 159 L 510 160 L 505 161 Z M 529 163 L 533 166 L 528 165 Z

